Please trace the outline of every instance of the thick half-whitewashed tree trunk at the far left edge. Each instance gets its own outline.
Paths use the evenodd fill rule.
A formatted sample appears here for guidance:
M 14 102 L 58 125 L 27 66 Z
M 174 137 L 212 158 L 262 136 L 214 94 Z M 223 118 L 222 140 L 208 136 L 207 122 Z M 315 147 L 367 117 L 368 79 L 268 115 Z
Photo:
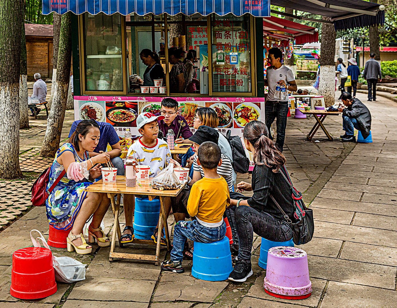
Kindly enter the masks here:
M 19 68 L 23 0 L 0 0 L 0 178 L 22 176 L 19 168 Z

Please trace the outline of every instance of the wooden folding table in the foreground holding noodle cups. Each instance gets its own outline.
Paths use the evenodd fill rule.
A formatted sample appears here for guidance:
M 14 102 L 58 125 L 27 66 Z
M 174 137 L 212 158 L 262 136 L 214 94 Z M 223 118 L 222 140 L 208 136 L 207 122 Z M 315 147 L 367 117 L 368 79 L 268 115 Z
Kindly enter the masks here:
M 151 179 L 147 181 L 141 181 L 142 186 L 136 187 L 127 187 L 125 186 L 125 176 L 118 175 L 115 183 L 105 183 L 103 180 L 100 180 L 96 183 L 93 183 L 89 187 L 85 189 L 87 192 L 94 192 L 94 193 L 106 193 L 108 194 L 108 198 L 110 198 L 110 202 L 112 204 L 112 210 L 114 215 L 114 225 L 112 229 L 112 242 L 110 244 L 110 253 L 109 253 L 109 261 L 112 262 L 113 258 L 120 258 L 120 259 L 133 259 L 133 260 L 148 260 L 154 261 L 156 265 L 159 264 L 159 255 L 160 255 L 160 240 L 157 241 L 155 244 L 152 240 L 142 240 L 142 239 L 134 239 L 132 243 L 135 244 L 146 244 L 146 245 L 156 245 L 156 254 L 130 254 L 124 252 L 115 252 L 114 248 L 116 245 L 116 233 L 119 240 L 119 246 L 123 247 L 121 243 L 121 229 L 119 224 L 119 213 L 120 213 L 120 200 L 121 194 L 138 194 L 138 195 L 145 195 L 149 197 L 149 200 L 153 200 L 154 197 L 159 196 L 160 198 L 160 215 L 159 215 L 159 223 L 158 229 L 162 230 L 163 225 L 165 226 L 165 237 L 167 248 L 170 250 L 170 235 L 168 232 L 168 225 L 167 219 L 165 216 L 165 209 L 164 209 L 164 197 L 176 197 L 181 190 L 185 187 L 182 185 L 181 188 L 175 190 L 164 190 L 159 191 L 157 189 L 152 189 L 149 185 Z M 117 195 L 117 201 L 114 201 L 114 196 Z M 160 233 L 160 232 L 159 232 Z M 160 233 L 161 234 L 161 233 Z

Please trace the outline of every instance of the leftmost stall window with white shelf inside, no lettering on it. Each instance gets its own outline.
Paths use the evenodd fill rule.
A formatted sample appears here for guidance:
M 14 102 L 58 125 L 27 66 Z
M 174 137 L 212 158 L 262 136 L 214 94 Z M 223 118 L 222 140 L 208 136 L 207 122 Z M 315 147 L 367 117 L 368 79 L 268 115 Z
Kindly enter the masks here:
M 120 14 L 83 15 L 84 92 L 123 92 L 123 18 Z

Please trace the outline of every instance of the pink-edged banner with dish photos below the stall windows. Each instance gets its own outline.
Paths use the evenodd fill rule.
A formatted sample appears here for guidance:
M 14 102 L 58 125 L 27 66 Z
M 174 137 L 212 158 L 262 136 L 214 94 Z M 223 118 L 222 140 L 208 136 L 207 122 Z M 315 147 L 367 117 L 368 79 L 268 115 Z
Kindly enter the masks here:
M 136 119 L 142 112 L 160 112 L 162 97 L 130 97 L 130 96 L 75 96 L 75 120 L 95 119 L 99 122 L 112 124 L 119 137 L 124 137 L 126 128 L 131 134 L 139 136 Z M 194 133 L 193 121 L 196 110 L 209 107 L 219 117 L 217 127 L 226 135 L 231 130 L 232 136 L 243 136 L 243 129 L 250 121 L 265 119 L 264 98 L 197 98 L 177 97 L 178 114 L 183 116 Z M 243 142 L 244 145 L 244 142 Z M 251 167 L 252 154 L 247 151 Z

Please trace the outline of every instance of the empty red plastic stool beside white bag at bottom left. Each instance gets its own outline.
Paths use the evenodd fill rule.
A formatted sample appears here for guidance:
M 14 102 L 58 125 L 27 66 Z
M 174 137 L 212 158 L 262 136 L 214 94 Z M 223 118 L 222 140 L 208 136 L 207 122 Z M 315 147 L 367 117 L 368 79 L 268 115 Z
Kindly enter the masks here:
M 52 252 L 27 247 L 12 254 L 10 294 L 21 299 L 44 298 L 56 293 Z

